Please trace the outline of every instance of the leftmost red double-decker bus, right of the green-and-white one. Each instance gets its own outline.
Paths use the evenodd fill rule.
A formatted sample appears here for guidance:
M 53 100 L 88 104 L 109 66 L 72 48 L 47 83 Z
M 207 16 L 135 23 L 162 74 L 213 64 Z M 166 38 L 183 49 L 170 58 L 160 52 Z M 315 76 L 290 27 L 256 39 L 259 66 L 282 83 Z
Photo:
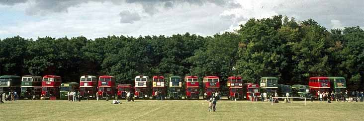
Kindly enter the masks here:
M 61 86 L 62 78 L 56 75 L 45 75 L 42 79 L 42 96 L 59 97 L 59 87 Z

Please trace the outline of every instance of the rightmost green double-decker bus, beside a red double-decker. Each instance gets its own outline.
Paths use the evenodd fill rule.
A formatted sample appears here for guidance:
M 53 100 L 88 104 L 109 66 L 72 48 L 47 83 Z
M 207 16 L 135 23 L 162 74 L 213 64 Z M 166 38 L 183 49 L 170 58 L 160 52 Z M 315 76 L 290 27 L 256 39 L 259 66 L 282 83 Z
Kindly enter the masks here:
M 335 93 L 345 92 L 346 80 L 344 77 L 328 77 Z M 334 85 L 334 86 L 332 86 Z

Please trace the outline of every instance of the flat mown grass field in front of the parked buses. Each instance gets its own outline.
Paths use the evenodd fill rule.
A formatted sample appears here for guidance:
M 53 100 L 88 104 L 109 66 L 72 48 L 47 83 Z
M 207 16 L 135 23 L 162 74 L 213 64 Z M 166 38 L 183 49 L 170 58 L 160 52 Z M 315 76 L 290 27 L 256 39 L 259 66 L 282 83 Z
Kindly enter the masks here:
M 0 121 L 363 121 L 364 103 L 279 103 L 220 101 L 207 112 L 207 101 L 20 100 L 0 104 Z

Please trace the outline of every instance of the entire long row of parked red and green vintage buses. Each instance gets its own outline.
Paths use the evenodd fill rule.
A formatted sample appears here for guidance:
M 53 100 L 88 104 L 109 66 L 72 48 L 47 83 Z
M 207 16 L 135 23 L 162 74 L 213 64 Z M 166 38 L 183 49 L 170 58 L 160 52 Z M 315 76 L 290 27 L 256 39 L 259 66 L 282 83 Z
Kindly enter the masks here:
M 134 92 L 134 97 L 139 99 L 154 98 L 156 95 L 163 95 L 169 99 L 199 99 L 200 95 L 208 98 L 213 95 L 213 92 L 220 91 L 220 78 L 217 76 L 205 76 L 202 80 L 202 85 L 199 85 L 197 76 L 171 76 L 168 78 L 168 84 L 165 83 L 165 77 L 153 76 L 150 79 L 148 76 L 136 76 L 134 86 L 132 84 L 116 84 L 114 76 L 103 75 L 96 76 L 84 75 L 80 78 L 80 83 L 70 82 L 62 83 L 62 78 L 56 75 L 41 76 L 15 76 L 4 75 L 0 76 L 0 91 L 9 92 L 16 91 L 20 94 L 20 98 L 30 98 L 35 95 L 36 98 L 44 97 L 59 97 L 67 99 L 67 92 L 80 92 L 82 97 L 95 98 L 96 92 L 99 98 L 125 98 L 127 92 Z M 182 83 L 185 86 L 182 87 Z M 252 93 L 259 96 L 261 92 L 266 92 L 271 95 L 277 92 L 279 96 L 284 97 L 288 92 L 290 96 L 307 97 L 311 93 L 317 97 L 317 92 L 345 92 L 346 81 L 344 77 L 311 77 L 309 85 L 283 85 L 278 84 L 277 77 L 262 77 L 260 84 L 243 83 L 243 78 L 240 76 L 231 76 L 227 79 L 227 87 L 229 93 L 228 99 L 247 99 Z M 331 86 L 333 85 L 333 87 Z M 168 90 L 167 90 L 168 87 Z M 199 88 L 203 88 L 203 94 L 200 94 Z M 156 93 L 158 92 L 158 93 Z M 168 95 L 167 95 L 168 94 Z

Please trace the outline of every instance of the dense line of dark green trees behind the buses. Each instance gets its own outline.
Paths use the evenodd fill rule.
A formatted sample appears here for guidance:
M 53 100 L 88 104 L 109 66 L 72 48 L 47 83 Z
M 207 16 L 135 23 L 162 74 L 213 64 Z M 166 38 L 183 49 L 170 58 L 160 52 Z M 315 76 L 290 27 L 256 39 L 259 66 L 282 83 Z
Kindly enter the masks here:
M 327 30 L 312 19 L 277 15 L 251 18 L 235 32 L 207 37 L 0 40 L 0 75 L 47 74 L 60 75 L 64 82 L 113 75 L 119 83 L 132 83 L 141 74 L 216 75 L 223 81 L 241 75 L 247 82 L 276 76 L 278 83 L 290 85 L 307 84 L 311 76 L 343 76 L 357 89 L 364 85 L 364 31 L 359 26 Z

